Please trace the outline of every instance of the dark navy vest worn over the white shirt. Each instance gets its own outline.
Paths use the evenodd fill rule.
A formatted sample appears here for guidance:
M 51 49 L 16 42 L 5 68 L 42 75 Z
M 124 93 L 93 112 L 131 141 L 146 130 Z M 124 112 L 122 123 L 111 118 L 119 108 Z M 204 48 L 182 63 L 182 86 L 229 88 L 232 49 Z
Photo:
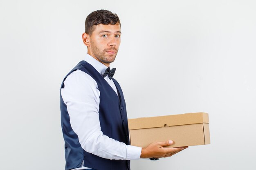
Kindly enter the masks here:
M 85 61 L 79 62 L 66 77 L 78 69 L 90 75 L 98 84 L 100 91 L 99 120 L 103 134 L 129 145 L 126 104 L 118 82 L 112 79 L 117 87 L 119 97 L 103 76 L 92 65 Z M 63 82 L 61 88 L 65 88 Z M 83 150 L 79 143 L 78 136 L 71 128 L 67 106 L 63 102 L 62 97 L 61 127 L 65 141 L 66 170 L 80 167 L 83 161 L 83 166 L 95 170 L 130 170 L 130 161 L 128 160 L 105 159 Z

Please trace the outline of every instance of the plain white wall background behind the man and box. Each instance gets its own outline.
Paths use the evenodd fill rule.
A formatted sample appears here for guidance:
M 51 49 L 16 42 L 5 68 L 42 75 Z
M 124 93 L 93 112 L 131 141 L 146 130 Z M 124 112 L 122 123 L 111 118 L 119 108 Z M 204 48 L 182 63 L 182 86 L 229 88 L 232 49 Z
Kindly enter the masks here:
M 121 20 L 128 118 L 209 113 L 210 145 L 132 170 L 255 169 L 254 0 L 0 0 L 0 169 L 64 169 L 59 89 L 97 9 Z

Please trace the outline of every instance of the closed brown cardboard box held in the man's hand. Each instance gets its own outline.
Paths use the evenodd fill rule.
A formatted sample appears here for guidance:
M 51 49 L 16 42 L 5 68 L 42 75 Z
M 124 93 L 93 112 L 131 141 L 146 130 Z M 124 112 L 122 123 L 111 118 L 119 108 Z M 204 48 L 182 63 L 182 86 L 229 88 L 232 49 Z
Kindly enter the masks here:
M 208 113 L 128 119 L 130 144 L 145 148 L 155 141 L 173 140 L 169 147 L 210 144 Z

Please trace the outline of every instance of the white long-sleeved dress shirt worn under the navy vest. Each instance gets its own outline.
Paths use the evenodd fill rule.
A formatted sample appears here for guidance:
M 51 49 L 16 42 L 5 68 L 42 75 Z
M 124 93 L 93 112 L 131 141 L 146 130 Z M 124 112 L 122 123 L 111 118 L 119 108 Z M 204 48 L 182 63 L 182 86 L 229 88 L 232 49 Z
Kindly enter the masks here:
M 101 75 L 107 68 L 89 54 L 86 54 L 85 61 Z M 113 80 L 108 76 L 104 79 L 117 93 Z M 67 76 L 64 84 L 65 88 L 61 89 L 61 96 L 67 105 L 71 127 L 78 136 L 82 148 L 86 152 L 106 159 L 139 159 L 140 147 L 126 145 L 103 135 L 99 122 L 100 91 L 97 82 L 85 72 L 76 70 Z M 76 170 L 82 169 L 90 168 L 84 167 L 83 164 L 80 168 L 76 168 Z

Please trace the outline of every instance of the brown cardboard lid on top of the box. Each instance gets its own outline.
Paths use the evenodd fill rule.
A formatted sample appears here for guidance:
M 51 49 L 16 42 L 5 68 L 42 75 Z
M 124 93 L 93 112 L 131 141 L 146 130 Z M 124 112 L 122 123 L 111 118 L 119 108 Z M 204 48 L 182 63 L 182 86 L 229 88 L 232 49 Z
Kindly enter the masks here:
M 184 124 L 209 123 L 208 113 L 185 113 L 180 115 L 168 115 L 157 117 L 141 117 L 128 119 L 129 130 L 157 128 L 163 126 L 178 126 Z

